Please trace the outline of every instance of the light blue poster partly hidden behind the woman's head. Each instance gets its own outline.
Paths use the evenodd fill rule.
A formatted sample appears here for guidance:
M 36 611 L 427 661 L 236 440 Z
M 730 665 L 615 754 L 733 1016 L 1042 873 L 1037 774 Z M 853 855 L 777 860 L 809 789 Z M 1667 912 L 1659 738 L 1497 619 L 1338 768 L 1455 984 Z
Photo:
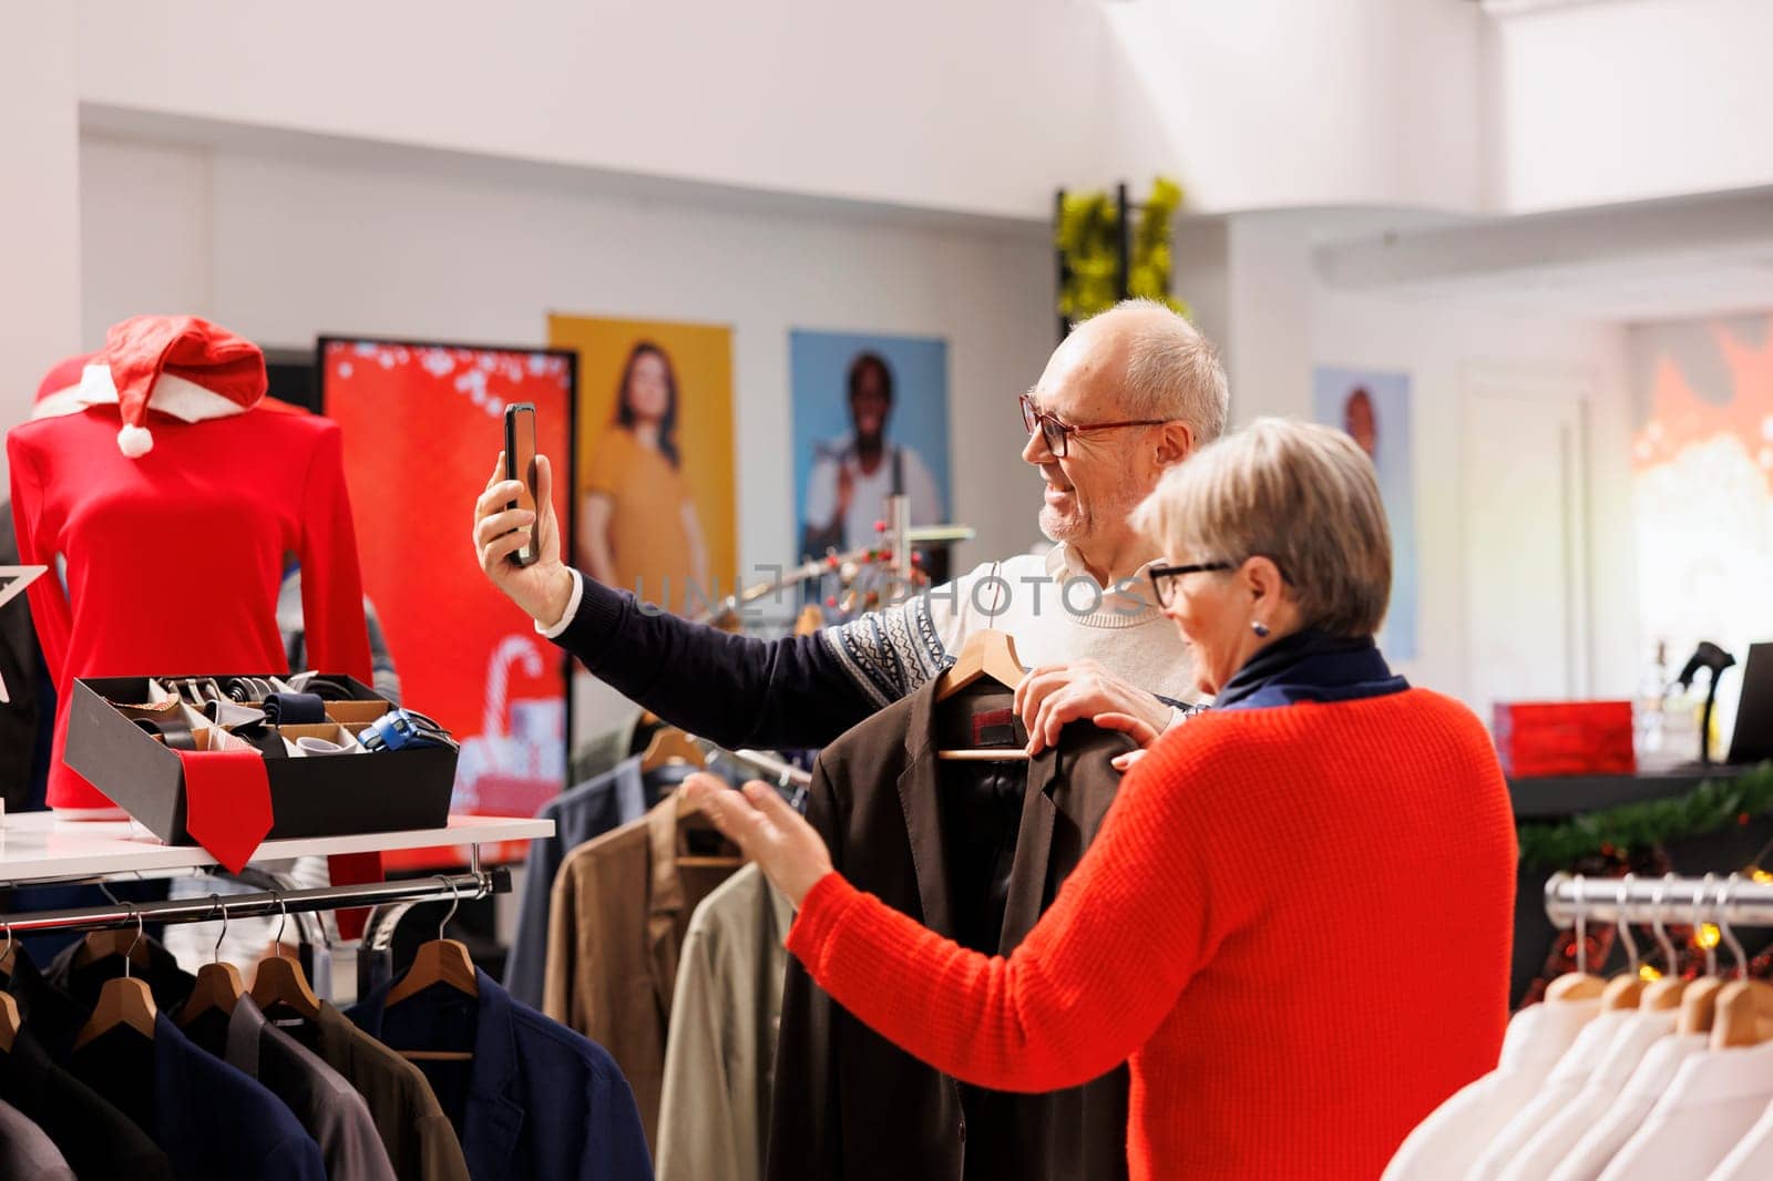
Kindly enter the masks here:
M 1379 473 L 1379 497 L 1392 527 L 1392 606 L 1379 628 L 1379 651 L 1390 660 L 1415 660 L 1417 486 L 1410 374 L 1321 365 L 1314 408 L 1319 422 L 1347 431 Z

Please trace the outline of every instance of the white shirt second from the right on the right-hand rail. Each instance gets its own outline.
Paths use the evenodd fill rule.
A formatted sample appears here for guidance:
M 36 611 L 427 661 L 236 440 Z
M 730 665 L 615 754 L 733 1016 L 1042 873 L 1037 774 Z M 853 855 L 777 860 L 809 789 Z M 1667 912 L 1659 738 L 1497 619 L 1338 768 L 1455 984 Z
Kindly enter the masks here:
M 1601 1181 L 1704 1177 L 1743 1142 L 1769 1099 L 1773 1043 L 1695 1053 Z

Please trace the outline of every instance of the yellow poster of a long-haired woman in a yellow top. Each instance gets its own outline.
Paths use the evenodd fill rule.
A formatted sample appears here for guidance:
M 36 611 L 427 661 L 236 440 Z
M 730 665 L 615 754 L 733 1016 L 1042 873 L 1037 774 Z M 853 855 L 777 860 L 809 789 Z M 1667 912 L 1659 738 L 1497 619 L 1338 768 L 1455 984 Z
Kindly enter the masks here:
M 578 536 L 587 575 L 679 615 L 732 590 L 732 332 L 551 316 L 578 351 Z

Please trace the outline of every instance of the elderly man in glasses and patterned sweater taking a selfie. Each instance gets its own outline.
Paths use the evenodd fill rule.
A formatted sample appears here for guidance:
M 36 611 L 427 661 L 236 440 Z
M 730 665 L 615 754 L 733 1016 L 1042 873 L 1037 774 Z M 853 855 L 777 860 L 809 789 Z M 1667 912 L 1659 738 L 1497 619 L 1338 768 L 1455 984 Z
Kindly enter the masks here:
M 725 747 L 823 747 L 941 674 L 979 628 L 1016 638 L 1032 670 L 1016 690 L 1030 752 L 1066 722 L 1126 715 L 1154 731 L 1191 693 L 1186 649 L 1151 601 L 1160 555 L 1133 507 L 1174 463 L 1225 427 L 1225 372 L 1181 316 L 1128 301 L 1055 349 L 1021 397 L 1021 458 L 1041 472 L 1046 557 L 988 562 L 952 583 L 810 637 L 757 640 L 642 610 L 560 562 L 539 463 L 541 520 L 507 511 L 502 465 L 475 505 L 480 569 L 537 630 L 667 722 Z M 509 557 L 530 530 L 541 560 Z

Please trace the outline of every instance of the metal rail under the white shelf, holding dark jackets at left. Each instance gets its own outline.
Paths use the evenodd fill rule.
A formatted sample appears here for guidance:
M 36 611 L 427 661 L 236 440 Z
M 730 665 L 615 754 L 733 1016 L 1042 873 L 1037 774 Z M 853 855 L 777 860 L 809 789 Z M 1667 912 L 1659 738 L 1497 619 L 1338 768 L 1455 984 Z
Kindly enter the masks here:
M 468 901 L 509 892 L 511 872 L 504 867 L 493 867 L 479 872 L 413 878 L 410 881 L 372 881 L 367 885 L 317 887 L 312 890 L 264 890 L 261 894 L 222 894 L 213 899 L 115 903 L 74 910 L 0 915 L 0 935 L 5 931 L 12 935 L 30 935 L 34 931 L 105 931 L 133 927 L 138 920 L 213 922 L 223 919 L 264 919 L 285 913 L 305 915 L 323 910 L 349 910 L 353 906 Z

